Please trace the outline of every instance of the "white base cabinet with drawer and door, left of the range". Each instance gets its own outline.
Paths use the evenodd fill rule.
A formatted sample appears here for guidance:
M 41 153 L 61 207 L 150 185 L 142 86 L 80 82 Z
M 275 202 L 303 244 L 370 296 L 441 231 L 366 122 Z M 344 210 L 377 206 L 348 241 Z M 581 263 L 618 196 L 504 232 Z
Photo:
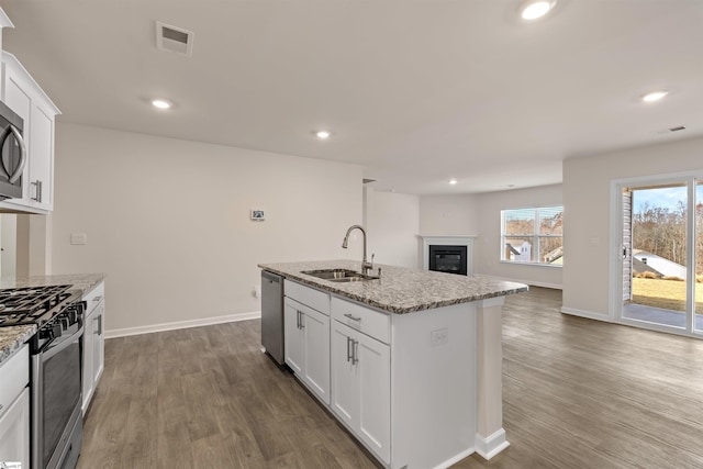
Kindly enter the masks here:
M 0 366 L 0 461 L 30 467 L 30 358 L 26 345 Z

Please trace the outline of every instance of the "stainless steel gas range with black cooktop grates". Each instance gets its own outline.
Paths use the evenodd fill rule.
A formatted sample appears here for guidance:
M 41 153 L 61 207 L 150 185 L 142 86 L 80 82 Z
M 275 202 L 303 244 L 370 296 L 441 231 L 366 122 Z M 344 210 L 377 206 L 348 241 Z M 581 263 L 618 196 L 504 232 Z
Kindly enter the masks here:
M 31 355 L 31 467 L 72 469 L 82 443 L 85 303 L 71 286 L 0 290 L 0 326 L 36 324 Z

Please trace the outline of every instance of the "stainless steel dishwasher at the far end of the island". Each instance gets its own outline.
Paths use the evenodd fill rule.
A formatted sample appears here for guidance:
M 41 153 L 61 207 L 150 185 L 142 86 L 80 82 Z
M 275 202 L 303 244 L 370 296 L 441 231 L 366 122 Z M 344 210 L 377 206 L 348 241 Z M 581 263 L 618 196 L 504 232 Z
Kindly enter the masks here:
M 261 270 L 261 345 L 283 365 L 283 277 Z

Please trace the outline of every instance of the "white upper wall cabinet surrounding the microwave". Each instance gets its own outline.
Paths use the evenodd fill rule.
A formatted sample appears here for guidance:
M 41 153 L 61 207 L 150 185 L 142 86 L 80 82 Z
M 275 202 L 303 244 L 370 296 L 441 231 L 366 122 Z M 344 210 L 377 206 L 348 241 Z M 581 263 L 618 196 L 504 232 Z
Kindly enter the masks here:
M 22 198 L 0 202 L 0 209 L 48 213 L 54 209 L 54 125 L 58 108 L 22 64 L 2 52 L 2 101 L 24 121 L 27 163 Z

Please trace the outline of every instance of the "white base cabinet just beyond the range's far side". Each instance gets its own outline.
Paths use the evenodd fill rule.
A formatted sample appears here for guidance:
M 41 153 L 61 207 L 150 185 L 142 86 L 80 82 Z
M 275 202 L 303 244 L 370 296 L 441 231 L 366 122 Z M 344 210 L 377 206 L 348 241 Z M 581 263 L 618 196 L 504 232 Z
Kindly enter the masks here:
M 87 309 L 83 315 L 83 415 L 90 405 L 104 369 L 104 282 L 83 297 Z

